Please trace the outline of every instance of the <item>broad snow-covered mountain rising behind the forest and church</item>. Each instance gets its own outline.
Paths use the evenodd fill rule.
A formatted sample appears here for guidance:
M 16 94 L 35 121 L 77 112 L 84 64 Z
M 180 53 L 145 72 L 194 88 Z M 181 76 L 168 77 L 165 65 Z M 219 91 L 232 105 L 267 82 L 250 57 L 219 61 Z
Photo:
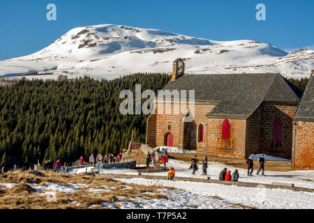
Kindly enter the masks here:
M 178 57 L 186 61 L 186 72 L 194 74 L 280 72 L 306 77 L 314 68 L 313 50 L 287 53 L 253 40 L 206 40 L 104 24 L 72 29 L 34 54 L 0 61 L 0 76 L 113 79 L 135 72 L 170 73 Z

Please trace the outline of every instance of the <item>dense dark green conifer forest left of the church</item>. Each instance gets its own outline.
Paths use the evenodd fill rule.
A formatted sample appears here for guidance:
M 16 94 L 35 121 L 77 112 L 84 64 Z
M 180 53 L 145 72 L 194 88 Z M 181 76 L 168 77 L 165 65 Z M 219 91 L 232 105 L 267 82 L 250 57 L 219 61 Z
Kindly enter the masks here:
M 132 130 L 134 141 L 144 143 L 147 116 L 122 115 L 119 93 L 128 89 L 135 95 L 135 84 L 157 93 L 169 80 L 166 74 L 138 73 L 110 81 L 22 79 L 0 87 L 0 167 L 117 155 L 127 148 Z

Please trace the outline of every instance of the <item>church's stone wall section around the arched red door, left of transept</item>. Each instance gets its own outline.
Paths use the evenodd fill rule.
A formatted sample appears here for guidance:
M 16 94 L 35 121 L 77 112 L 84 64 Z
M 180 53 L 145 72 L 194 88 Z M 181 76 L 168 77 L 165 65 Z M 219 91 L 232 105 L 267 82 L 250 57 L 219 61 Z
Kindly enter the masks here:
M 186 114 L 179 111 L 179 105 L 170 103 L 165 106 L 163 114 L 158 114 L 158 103 L 156 103 L 156 114 L 147 118 L 147 141 L 151 147 L 165 146 L 165 136 L 168 132 L 173 134 L 173 146 L 185 149 L 207 148 L 208 118 L 205 116 L 213 109 L 216 103 L 195 102 L 194 121 L 185 123 L 182 121 Z M 186 106 L 188 109 L 188 105 Z M 169 114 L 165 114 L 166 111 Z M 203 141 L 197 140 L 199 125 L 204 126 Z

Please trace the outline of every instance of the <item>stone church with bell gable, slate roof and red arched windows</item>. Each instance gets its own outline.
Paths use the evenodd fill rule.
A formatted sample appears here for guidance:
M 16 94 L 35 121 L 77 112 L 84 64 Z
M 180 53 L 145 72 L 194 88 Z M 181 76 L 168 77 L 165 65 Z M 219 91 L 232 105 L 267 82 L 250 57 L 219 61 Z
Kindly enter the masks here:
M 181 114 L 175 112 L 181 101 L 158 98 L 147 118 L 146 144 L 231 157 L 265 153 L 291 159 L 299 89 L 276 73 L 184 74 L 180 61 L 174 61 L 172 79 L 163 90 L 195 92 L 193 121 L 184 119 L 191 114 L 188 96 L 188 112 Z M 175 67 L 178 64 L 183 67 Z M 158 112 L 165 104 L 168 110 Z

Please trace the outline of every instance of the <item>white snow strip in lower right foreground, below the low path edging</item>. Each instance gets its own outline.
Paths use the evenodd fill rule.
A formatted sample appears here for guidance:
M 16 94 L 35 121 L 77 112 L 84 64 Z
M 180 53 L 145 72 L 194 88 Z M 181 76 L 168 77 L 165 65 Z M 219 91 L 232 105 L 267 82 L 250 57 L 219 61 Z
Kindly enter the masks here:
M 189 202 L 201 203 L 202 208 L 217 208 L 207 197 L 220 197 L 221 203 L 241 203 L 254 208 L 314 208 L 314 194 L 311 192 L 294 192 L 292 190 L 269 189 L 265 187 L 237 187 L 216 183 L 197 183 L 181 180 L 151 180 L 145 178 L 119 179 L 124 183 L 140 185 L 163 185 L 186 190 Z M 178 202 L 182 197 L 177 197 Z M 198 200 L 201 199 L 201 200 Z M 214 204 L 214 205 L 213 205 Z

